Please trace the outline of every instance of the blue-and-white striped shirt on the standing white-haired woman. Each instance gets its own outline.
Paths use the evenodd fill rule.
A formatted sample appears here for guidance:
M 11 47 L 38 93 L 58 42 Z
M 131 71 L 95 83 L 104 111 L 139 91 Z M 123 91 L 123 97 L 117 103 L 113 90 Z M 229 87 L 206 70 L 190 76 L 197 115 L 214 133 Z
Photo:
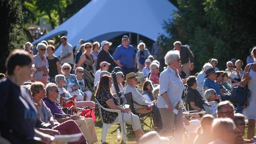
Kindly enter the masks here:
M 178 73 L 178 69 L 177 69 Z M 159 85 L 160 85 L 160 90 L 158 94 L 158 99 L 157 99 L 157 107 L 158 108 L 167 108 L 167 103 L 161 96 L 161 94 L 167 92 L 167 95 L 172 102 L 172 106 L 174 107 L 175 102 L 181 101 L 181 95 L 184 89 L 184 85 L 182 83 L 182 80 L 180 76 L 178 77 L 175 75 L 175 71 L 167 67 L 162 73 L 160 74 L 159 77 Z M 181 107 L 181 103 L 179 105 Z

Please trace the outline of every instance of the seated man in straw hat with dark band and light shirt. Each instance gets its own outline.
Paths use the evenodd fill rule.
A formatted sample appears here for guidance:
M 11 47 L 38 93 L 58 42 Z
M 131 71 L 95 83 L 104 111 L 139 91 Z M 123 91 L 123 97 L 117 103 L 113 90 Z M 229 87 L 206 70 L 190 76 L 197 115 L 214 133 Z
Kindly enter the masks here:
M 147 114 L 150 111 L 152 111 L 153 108 L 152 107 L 149 108 L 148 106 L 152 105 L 153 102 L 147 102 L 145 97 L 143 97 L 142 94 L 138 92 L 138 90 L 135 87 L 137 85 L 137 77 L 135 73 L 127 74 L 126 81 L 127 81 L 127 86 L 124 89 L 124 94 L 130 93 L 130 92 L 132 93 L 135 112 L 139 114 Z

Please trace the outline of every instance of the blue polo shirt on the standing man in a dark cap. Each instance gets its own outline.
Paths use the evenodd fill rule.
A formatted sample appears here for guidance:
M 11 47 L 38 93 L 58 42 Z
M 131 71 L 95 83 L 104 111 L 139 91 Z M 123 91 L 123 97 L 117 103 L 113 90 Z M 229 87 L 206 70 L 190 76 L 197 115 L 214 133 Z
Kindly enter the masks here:
M 117 46 L 113 55 L 114 60 L 119 60 L 121 65 L 126 68 L 132 68 L 134 65 L 135 52 L 132 45 L 125 48 L 122 44 Z

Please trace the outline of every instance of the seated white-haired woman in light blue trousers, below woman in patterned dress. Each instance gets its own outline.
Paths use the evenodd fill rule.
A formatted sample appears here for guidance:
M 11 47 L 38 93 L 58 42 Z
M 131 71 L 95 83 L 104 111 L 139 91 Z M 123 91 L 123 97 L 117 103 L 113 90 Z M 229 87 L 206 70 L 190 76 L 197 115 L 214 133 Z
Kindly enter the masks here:
M 77 81 L 80 85 L 79 90 L 81 90 L 84 94 L 84 101 L 90 101 L 92 98 L 92 92 L 88 89 L 86 79 L 83 77 L 84 68 L 78 67 L 75 70 Z

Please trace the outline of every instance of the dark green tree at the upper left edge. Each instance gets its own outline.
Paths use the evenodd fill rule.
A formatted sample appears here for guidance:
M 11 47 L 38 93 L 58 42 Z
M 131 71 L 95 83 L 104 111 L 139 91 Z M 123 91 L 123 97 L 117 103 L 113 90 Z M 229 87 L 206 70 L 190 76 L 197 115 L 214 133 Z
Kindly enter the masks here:
M 19 49 L 26 42 L 20 1 L 0 0 L 0 19 L 0 71 L 5 72 L 5 60 L 10 51 Z

